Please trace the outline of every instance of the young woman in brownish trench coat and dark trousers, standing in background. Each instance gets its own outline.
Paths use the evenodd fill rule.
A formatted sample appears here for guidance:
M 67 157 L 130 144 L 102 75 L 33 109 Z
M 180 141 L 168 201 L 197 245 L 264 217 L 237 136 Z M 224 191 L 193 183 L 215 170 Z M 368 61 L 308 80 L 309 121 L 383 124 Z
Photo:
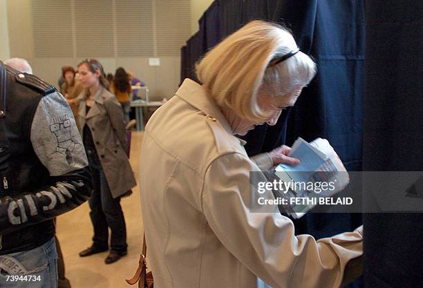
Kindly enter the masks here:
M 95 189 L 88 200 L 94 227 L 93 244 L 79 256 L 90 256 L 109 249 L 106 264 L 126 255 L 126 227 L 120 197 L 135 186 L 126 156 L 126 132 L 122 108 L 108 90 L 103 68 L 95 59 L 78 65 L 84 92 L 79 95 L 79 127 L 93 173 Z

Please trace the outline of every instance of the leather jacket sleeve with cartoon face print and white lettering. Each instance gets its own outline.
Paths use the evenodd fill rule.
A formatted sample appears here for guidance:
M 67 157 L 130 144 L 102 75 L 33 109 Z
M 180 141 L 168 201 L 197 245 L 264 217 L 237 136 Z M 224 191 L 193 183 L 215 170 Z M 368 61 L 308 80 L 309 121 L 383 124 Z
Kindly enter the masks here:
M 59 93 L 46 95 L 39 102 L 32 119 L 30 140 L 50 179 L 44 186 L 1 198 L 1 234 L 55 218 L 78 207 L 91 195 L 84 146 L 71 109 Z

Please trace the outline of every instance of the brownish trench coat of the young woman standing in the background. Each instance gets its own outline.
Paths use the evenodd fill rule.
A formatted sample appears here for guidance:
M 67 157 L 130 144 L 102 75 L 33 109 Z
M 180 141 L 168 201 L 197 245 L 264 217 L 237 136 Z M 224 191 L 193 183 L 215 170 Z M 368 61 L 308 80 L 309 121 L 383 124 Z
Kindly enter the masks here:
M 86 115 L 86 95 L 79 95 L 79 132 L 84 125 L 93 135 L 95 150 L 113 198 L 117 198 L 136 185 L 135 177 L 126 156 L 126 131 L 122 108 L 115 95 L 100 86 L 94 105 Z

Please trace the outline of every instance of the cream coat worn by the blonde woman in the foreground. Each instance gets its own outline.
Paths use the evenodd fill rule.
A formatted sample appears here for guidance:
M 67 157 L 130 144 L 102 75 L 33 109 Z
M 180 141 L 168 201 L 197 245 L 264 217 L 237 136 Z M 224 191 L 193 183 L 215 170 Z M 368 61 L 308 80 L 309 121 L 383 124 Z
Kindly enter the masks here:
M 252 213 L 249 173 L 259 167 L 232 134 L 189 79 L 149 120 L 140 190 L 154 286 L 253 288 L 261 278 L 274 288 L 339 287 L 363 253 L 362 227 L 316 241 L 294 236 L 280 213 Z

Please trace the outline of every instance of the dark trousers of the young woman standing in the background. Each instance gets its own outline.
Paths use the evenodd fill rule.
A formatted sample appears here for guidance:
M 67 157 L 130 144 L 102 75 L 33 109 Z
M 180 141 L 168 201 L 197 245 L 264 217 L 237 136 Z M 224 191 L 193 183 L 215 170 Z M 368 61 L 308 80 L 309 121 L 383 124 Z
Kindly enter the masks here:
M 88 199 L 90 217 L 93 222 L 93 246 L 99 249 L 109 248 L 109 227 L 111 230 L 111 251 L 124 253 L 126 244 L 126 224 L 120 198 L 113 198 L 107 184 L 106 175 L 95 150 L 86 149 L 88 163 L 93 175 L 94 191 Z

